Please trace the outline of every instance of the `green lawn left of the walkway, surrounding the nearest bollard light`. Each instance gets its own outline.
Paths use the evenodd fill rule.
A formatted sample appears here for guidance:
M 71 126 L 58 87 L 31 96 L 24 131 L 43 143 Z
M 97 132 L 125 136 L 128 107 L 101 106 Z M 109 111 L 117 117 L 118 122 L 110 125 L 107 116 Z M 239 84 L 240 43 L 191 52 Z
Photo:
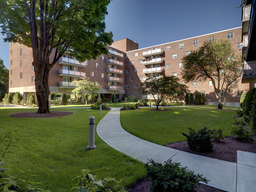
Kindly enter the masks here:
M 95 117 L 95 130 L 98 122 L 108 111 L 89 109 L 51 109 L 51 111 L 70 111 L 73 114 L 54 118 L 14 118 L 10 114 L 37 111 L 37 109 L 0 110 L 0 129 L 2 132 L 17 132 L 18 148 L 11 150 L 6 163 L 17 171 L 28 170 L 34 154 L 41 159 L 34 169 L 34 182 L 43 182 L 44 190 L 69 192 L 81 175 L 81 169 L 90 169 L 91 174 L 103 179 L 112 177 L 123 179 L 128 186 L 146 175 L 144 164 L 113 149 L 98 137 L 95 131 L 97 149 L 86 151 L 88 146 L 89 116 Z

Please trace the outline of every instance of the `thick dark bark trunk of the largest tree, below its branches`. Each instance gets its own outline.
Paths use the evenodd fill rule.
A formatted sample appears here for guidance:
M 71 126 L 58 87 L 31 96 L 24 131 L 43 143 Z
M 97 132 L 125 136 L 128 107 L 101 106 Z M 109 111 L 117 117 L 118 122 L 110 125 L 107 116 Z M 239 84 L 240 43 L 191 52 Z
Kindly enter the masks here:
M 35 73 L 35 91 L 37 95 L 38 111 L 37 113 L 50 113 L 49 109 L 49 71 L 45 65 L 43 71 L 37 70 Z

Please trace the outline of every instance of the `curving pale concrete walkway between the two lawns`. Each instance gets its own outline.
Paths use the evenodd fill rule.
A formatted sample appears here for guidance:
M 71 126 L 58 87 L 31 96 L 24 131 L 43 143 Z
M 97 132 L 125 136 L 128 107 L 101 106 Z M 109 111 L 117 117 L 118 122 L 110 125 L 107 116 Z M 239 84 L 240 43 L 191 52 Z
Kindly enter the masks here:
M 164 163 L 168 159 L 180 162 L 182 167 L 203 174 L 209 186 L 229 192 L 256 191 L 256 154 L 238 151 L 237 163 L 186 153 L 145 141 L 123 130 L 120 124 L 120 107 L 111 110 L 101 119 L 97 134 L 114 149 L 146 163 L 147 159 Z

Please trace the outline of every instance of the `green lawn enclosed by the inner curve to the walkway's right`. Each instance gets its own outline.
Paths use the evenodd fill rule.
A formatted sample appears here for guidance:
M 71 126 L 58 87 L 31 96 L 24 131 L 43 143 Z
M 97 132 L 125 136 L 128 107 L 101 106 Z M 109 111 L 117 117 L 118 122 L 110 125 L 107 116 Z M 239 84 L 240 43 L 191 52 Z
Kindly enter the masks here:
M 121 111 L 121 126 L 129 133 L 159 145 L 185 141 L 186 137 L 181 133 L 189 133 L 188 127 L 199 130 L 202 127 L 211 129 L 220 125 L 223 134 L 229 136 L 229 127 L 233 124 L 235 115 L 234 111 L 207 107 L 172 107 L 169 108 L 171 111 L 147 109 Z

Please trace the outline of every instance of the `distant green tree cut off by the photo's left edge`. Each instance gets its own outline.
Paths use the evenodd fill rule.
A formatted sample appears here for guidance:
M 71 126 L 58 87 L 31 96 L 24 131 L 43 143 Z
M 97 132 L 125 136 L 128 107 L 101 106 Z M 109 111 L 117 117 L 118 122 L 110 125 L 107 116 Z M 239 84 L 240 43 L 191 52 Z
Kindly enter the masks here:
M 9 70 L 3 64 L 3 60 L 0 58 L 0 97 L 5 95 L 6 90 L 9 87 Z

